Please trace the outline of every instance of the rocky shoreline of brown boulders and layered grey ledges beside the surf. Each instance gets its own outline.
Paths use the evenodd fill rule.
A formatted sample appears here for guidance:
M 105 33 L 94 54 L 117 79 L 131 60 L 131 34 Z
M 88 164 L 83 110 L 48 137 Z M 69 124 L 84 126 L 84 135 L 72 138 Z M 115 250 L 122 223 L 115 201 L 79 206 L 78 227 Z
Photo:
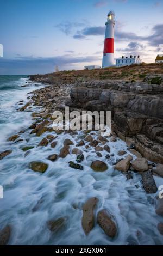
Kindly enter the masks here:
M 37 82 L 40 81 L 37 80 Z M 78 82 L 74 84 L 55 83 L 35 90 L 32 96 L 28 96 L 29 101 L 26 105 L 21 106 L 18 111 L 32 110 L 33 106 L 42 107 L 40 112 L 32 112 L 33 123 L 27 129 L 30 131 L 29 136 L 41 136 L 37 147 L 51 145 L 51 149 L 54 149 L 54 153 L 48 156 L 48 161 L 55 162 L 71 155 L 72 161 L 68 162 L 68 166 L 76 169 L 74 172 L 82 172 L 85 168 L 83 161 L 87 160 L 85 154 L 93 154 L 95 160 L 89 165 L 91 170 L 106 172 L 111 165 L 115 172 L 126 175 L 127 181 L 133 178 L 133 174 L 140 174 L 142 188 L 147 194 L 153 194 L 158 191 L 153 175 L 163 178 L 162 96 L 162 85 L 148 85 L 145 82 L 142 84 L 122 82 L 120 84 L 116 81 L 84 81 L 80 83 L 80 86 Z M 52 113 L 56 109 L 63 111 L 65 106 L 70 106 L 71 109 L 112 111 L 111 136 L 103 137 L 97 131 L 54 132 Z M 24 130 L 12 135 L 8 141 L 21 142 L 23 132 Z M 56 154 L 55 147 L 62 139 L 60 137 L 62 134 L 67 134 L 68 138 L 62 141 L 62 148 L 59 154 Z M 125 148 L 118 148 L 115 154 L 113 152 L 120 139 L 126 141 L 127 144 Z M 21 147 L 24 157 L 30 154 L 33 148 L 34 146 L 31 145 Z M 0 160 L 11 153 L 10 149 L 1 152 Z M 29 163 L 29 168 L 34 172 L 44 173 L 48 169 L 48 163 L 32 161 Z M 155 198 L 155 200 L 156 214 L 163 216 L 163 199 Z M 104 208 L 98 211 L 96 216 L 97 204 L 98 198 L 96 197 L 89 198 L 83 204 L 81 220 L 83 230 L 87 235 L 98 224 L 104 233 L 113 239 L 118 234 L 117 221 Z M 47 222 L 47 227 L 53 233 L 61 230 L 65 225 L 65 217 Z M 163 233 L 162 225 L 163 221 L 158 223 L 160 234 Z M 8 243 L 11 232 L 10 225 L 1 230 L 1 245 Z

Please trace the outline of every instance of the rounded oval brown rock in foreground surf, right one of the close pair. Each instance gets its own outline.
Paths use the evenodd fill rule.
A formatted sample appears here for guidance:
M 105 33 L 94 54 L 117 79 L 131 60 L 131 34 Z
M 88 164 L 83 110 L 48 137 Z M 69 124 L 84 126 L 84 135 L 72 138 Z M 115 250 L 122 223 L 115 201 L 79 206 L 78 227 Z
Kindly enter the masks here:
M 114 238 L 117 233 L 116 224 L 111 220 L 106 210 L 101 210 L 97 214 L 97 223 L 104 230 L 105 234 Z

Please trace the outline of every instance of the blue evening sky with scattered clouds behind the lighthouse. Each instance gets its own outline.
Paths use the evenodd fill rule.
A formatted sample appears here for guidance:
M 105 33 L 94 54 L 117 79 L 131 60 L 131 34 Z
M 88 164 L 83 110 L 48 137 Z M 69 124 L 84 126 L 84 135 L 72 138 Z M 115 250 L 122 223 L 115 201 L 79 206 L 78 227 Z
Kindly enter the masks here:
M 105 22 L 115 12 L 115 54 L 163 54 L 163 0 L 0 0 L 0 75 L 102 65 Z

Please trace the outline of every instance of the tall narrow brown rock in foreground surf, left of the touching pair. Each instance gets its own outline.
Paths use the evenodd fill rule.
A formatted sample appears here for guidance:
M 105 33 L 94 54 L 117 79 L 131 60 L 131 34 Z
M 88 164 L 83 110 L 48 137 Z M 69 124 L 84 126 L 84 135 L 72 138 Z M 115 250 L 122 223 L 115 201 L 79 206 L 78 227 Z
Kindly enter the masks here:
M 97 203 L 98 198 L 93 197 L 87 200 L 83 205 L 82 227 L 86 235 L 89 234 L 94 227 L 95 218 L 93 211 L 95 210 Z

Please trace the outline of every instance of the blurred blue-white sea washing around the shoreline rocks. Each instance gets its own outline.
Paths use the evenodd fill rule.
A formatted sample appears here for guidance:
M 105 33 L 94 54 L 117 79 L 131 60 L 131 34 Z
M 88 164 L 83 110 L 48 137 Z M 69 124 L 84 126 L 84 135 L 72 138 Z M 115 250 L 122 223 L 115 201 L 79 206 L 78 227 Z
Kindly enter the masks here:
M 24 85 L 26 87 L 22 87 Z M 66 138 L 76 144 L 82 131 L 76 137 L 62 133 L 54 149 L 49 144 L 38 147 L 49 132 L 37 137 L 30 135 L 28 127 L 34 121 L 32 112 L 39 112 L 42 107 L 33 106 L 24 112 L 17 109 L 28 102 L 33 90 L 44 86 L 30 82 L 27 76 L 0 76 L 0 151 L 12 150 L 0 160 L 0 185 L 3 187 L 0 230 L 10 225 L 9 245 L 162 245 L 162 235 L 157 229 L 162 217 L 155 213 L 158 192 L 147 194 L 140 174 L 133 173 L 133 179 L 127 180 L 126 175 L 113 168 L 113 163 L 120 158 L 118 150 L 129 154 L 125 142 L 118 138 L 116 142 L 109 142 L 110 154 L 114 154 L 109 160 L 105 159 L 104 151 L 101 152 L 101 160 L 107 161 L 109 167 L 105 172 L 94 172 L 90 168 L 97 156 L 92 149 L 84 147 L 81 147 L 83 171 L 68 166 L 68 162 L 76 161 L 74 154 L 55 162 L 47 159 L 59 153 Z M 19 133 L 17 141 L 7 140 L 20 130 L 25 132 Z M 34 147 L 28 154 L 21 149 L 27 145 Z M 43 174 L 33 172 L 29 168 L 32 161 L 43 161 L 48 169 Z M 162 178 L 154 176 L 154 179 L 158 187 L 162 185 Z M 106 209 L 116 223 L 114 239 L 105 235 L 96 217 L 94 228 L 85 235 L 82 207 L 91 197 L 98 198 L 95 216 L 99 210 Z M 65 224 L 56 232 L 50 231 L 47 223 L 58 218 L 65 218 Z

